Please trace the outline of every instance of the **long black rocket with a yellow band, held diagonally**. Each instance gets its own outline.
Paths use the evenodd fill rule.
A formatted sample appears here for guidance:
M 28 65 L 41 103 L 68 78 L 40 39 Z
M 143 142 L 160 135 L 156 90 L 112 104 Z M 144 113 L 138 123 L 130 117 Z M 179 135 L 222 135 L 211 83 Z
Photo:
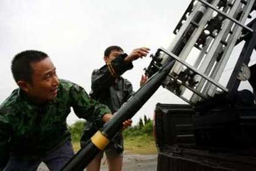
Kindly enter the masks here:
M 62 168 L 64 171 L 76 171 L 82 170 L 88 166 L 95 156 L 104 150 L 109 143 L 109 139 L 112 139 L 122 128 L 123 122 L 133 117 L 139 109 L 146 103 L 146 101 L 156 92 L 164 81 L 170 69 L 174 66 L 175 60 L 170 59 L 155 75 L 153 75 L 148 81 L 137 90 L 137 92 L 131 96 L 131 98 L 123 104 L 123 106 L 117 111 L 114 117 L 105 123 L 103 127 L 92 139 L 87 141 L 84 148 L 78 151 L 76 155 Z

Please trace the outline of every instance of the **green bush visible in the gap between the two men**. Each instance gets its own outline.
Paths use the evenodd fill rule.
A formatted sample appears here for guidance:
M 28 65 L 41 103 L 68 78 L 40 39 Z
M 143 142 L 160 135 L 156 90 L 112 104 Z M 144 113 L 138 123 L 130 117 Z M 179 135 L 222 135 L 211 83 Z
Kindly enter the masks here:
M 85 125 L 86 121 L 79 120 L 78 122 L 75 122 L 74 124 L 68 126 L 68 130 L 71 133 L 72 141 L 80 141 Z

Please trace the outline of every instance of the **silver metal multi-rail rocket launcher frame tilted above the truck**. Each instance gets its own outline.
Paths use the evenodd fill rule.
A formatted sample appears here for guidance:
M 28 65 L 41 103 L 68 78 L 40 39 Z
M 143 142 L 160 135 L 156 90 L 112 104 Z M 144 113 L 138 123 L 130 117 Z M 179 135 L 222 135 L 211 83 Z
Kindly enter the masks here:
M 167 49 L 159 48 L 145 69 L 151 77 L 166 63 L 175 60 L 163 87 L 189 104 L 232 93 L 241 81 L 250 78 L 249 64 L 256 44 L 255 0 L 194 0 L 175 28 L 176 37 Z M 251 19 L 251 23 L 248 23 Z M 219 81 L 233 48 L 245 41 L 226 85 Z M 230 66 L 229 66 L 230 67 Z

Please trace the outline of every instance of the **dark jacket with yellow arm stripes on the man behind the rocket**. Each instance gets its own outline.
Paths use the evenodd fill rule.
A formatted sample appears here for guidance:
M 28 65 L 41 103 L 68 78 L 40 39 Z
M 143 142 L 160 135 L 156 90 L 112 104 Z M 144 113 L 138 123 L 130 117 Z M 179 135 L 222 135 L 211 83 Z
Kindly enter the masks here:
M 106 104 L 113 114 L 133 94 L 131 82 L 121 76 L 125 71 L 133 68 L 131 62 L 124 62 L 123 59 L 126 56 L 126 54 L 121 54 L 100 69 L 92 72 L 92 91 L 90 96 L 100 103 Z M 87 122 L 81 141 L 86 142 L 98 129 L 97 125 Z M 114 146 L 118 148 L 117 150 L 123 151 L 122 136 L 116 136 L 109 146 Z

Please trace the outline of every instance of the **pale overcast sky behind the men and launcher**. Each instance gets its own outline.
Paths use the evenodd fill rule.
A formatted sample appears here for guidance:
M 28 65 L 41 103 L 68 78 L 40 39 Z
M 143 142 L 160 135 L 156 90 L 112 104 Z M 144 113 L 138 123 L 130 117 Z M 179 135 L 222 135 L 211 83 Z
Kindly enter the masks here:
M 126 53 L 147 46 L 155 53 L 167 48 L 172 31 L 190 0 L 1 0 L 0 2 L 0 102 L 17 86 L 10 73 L 12 57 L 26 49 L 44 51 L 51 57 L 59 78 L 73 81 L 90 92 L 92 70 L 104 65 L 103 52 L 110 45 L 121 46 Z M 139 88 L 143 68 L 151 59 L 136 60 L 133 70 L 123 77 L 134 90 Z M 247 86 L 247 85 L 245 85 Z M 155 104 L 184 103 L 168 90 L 160 88 L 133 117 L 153 117 Z M 70 114 L 67 122 L 78 118 Z

